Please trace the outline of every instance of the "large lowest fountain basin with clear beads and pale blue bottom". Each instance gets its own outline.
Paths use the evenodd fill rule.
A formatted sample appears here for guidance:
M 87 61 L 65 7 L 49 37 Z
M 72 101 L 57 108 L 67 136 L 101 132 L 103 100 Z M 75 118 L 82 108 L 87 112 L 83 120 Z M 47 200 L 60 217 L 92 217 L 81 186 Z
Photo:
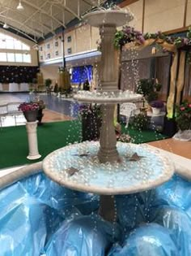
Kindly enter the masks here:
M 120 163 L 100 163 L 99 142 L 86 141 L 55 150 L 43 161 L 43 170 L 50 179 L 69 189 L 103 195 L 137 193 L 169 180 L 174 165 L 149 145 L 118 142 Z M 137 162 L 129 158 L 137 153 Z M 70 175 L 70 168 L 77 170 Z

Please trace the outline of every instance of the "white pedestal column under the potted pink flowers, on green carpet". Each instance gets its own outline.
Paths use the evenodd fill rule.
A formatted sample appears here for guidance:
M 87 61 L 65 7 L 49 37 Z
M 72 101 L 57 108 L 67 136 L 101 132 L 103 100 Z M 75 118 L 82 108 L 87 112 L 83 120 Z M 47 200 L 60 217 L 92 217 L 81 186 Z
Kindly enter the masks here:
M 37 135 L 36 135 L 36 127 L 37 127 L 37 121 L 35 122 L 27 122 L 26 128 L 28 132 L 28 159 L 34 160 L 41 157 L 38 151 L 38 141 L 37 141 Z

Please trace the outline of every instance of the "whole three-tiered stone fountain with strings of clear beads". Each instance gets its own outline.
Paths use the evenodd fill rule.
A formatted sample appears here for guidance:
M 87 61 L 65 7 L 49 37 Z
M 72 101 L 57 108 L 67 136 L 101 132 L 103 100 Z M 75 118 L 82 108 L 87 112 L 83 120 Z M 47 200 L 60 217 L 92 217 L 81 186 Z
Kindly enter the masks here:
M 169 180 L 174 167 L 168 159 L 151 150 L 148 145 L 133 145 L 116 140 L 113 126 L 115 104 L 136 102 L 142 95 L 118 90 L 117 60 L 113 39 L 116 28 L 132 20 L 121 10 L 95 11 L 84 17 L 88 24 L 100 28 L 101 68 L 100 86 L 96 92 L 77 93 L 79 102 L 102 104 L 100 143 L 86 141 L 68 145 L 49 154 L 43 161 L 45 173 L 70 189 L 98 193 L 100 215 L 116 219 L 115 194 L 135 193 L 151 189 Z M 132 158 L 136 154 L 137 158 Z

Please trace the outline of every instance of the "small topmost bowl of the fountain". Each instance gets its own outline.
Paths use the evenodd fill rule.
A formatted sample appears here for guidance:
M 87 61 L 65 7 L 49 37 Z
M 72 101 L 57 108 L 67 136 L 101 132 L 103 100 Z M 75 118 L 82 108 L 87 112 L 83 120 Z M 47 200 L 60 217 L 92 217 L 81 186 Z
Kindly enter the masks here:
M 124 10 L 102 10 L 90 12 L 84 15 L 83 19 L 93 27 L 103 27 L 105 25 L 120 27 L 133 20 L 134 16 Z

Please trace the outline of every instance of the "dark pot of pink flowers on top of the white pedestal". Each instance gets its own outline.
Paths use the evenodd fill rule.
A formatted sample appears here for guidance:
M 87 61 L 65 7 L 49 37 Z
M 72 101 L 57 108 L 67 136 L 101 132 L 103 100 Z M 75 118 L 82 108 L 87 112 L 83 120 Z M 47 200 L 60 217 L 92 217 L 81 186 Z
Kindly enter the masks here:
M 37 119 L 39 105 L 36 102 L 23 102 L 19 105 L 19 111 L 23 111 L 23 115 L 28 122 L 35 122 Z

